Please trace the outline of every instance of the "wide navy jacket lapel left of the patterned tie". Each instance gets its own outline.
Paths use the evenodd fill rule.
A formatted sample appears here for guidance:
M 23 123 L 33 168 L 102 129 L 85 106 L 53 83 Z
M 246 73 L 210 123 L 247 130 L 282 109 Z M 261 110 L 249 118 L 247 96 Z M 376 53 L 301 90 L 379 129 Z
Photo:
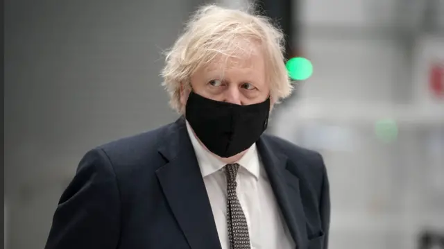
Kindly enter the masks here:
M 181 118 L 162 138 L 159 152 L 168 161 L 156 174 L 169 206 L 192 249 L 221 248 L 194 148 Z

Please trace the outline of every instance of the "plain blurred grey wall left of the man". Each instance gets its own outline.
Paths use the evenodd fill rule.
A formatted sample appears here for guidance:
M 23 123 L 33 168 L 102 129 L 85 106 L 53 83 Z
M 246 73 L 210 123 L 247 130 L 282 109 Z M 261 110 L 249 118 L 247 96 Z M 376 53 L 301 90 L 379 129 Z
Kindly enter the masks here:
M 5 2 L 8 248 L 43 248 L 80 157 L 173 121 L 162 49 L 196 1 Z

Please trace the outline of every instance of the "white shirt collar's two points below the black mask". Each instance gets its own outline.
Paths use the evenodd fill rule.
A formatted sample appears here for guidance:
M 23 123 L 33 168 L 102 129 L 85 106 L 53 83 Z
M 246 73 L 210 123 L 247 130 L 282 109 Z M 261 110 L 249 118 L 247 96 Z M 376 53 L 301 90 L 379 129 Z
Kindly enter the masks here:
M 225 162 L 222 162 L 219 158 L 210 153 L 210 151 L 207 151 L 207 149 L 198 141 L 188 121 L 186 121 L 186 123 L 189 139 L 191 140 L 194 152 L 196 153 L 200 173 L 202 173 L 203 178 L 222 169 L 225 166 Z M 257 155 L 256 144 L 250 146 L 245 155 L 241 157 L 237 163 L 248 172 L 255 175 L 256 180 L 259 179 L 259 156 Z

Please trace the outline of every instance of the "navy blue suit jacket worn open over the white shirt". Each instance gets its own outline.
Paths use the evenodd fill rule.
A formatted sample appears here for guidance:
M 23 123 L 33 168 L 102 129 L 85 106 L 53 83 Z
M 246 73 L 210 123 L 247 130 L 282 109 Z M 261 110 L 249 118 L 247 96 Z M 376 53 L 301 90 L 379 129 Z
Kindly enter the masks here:
M 297 248 L 327 248 L 330 194 L 321 155 L 270 135 L 257 149 Z M 46 242 L 46 249 L 71 248 L 221 248 L 185 119 L 83 157 Z

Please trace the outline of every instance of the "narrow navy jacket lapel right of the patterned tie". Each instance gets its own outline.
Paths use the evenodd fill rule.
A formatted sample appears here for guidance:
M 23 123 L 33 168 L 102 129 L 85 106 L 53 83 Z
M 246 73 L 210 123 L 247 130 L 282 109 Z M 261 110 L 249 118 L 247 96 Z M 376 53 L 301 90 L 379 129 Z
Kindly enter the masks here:
M 300 197 L 299 179 L 287 170 L 287 157 L 282 153 L 273 151 L 272 146 L 264 140 L 264 136 L 257 141 L 257 150 L 264 163 L 264 168 L 289 227 L 291 237 L 296 242 L 298 249 L 306 249 L 308 243 L 307 228 L 304 207 Z

